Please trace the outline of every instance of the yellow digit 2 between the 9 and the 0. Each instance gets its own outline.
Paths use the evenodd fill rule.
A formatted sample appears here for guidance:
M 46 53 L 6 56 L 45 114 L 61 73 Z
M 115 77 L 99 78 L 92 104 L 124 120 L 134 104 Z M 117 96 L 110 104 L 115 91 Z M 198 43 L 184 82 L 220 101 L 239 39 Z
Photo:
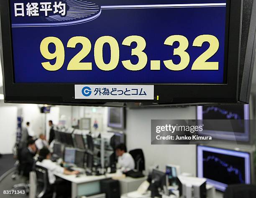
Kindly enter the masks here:
M 82 50 L 72 58 L 67 66 L 67 70 L 92 70 L 92 63 L 81 63 L 82 59 L 84 59 L 92 49 L 90 40 L 83 36 L 75 36 L 69 39 L 67 47 L 75 48 L 77 43 L 82 44 Z

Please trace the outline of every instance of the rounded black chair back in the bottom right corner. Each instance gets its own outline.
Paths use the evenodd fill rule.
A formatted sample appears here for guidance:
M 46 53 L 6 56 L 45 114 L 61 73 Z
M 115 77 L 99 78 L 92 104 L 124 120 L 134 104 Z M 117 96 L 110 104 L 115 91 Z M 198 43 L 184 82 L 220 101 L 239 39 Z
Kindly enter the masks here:
M 224 193 L 224 198 L 255 198 L 256 185 L 229 185 Z

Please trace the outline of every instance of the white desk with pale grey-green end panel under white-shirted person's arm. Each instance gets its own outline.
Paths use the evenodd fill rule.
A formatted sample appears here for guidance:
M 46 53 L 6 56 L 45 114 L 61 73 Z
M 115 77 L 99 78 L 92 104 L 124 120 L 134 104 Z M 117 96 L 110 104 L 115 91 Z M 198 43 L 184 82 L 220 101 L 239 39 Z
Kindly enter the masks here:
M 64 174 L 55 175 L 72 183 L 72 198 L 77 198 L 77 196 L 81 195 L 92 195 L 100 193 L 100 180 L 109 179 L 112 177 L 111 174 L 100 176 L 80 175 L 80 177 L 76 177 L 76 175 Z

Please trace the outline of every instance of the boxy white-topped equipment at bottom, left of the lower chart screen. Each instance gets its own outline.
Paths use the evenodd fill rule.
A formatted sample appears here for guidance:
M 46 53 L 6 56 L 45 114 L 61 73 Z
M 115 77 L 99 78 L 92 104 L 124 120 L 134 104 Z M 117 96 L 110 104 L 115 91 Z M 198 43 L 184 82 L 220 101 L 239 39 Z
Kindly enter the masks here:
M 206 179 L 178 176 L 179 196 L 186 198 L 206 198 Z

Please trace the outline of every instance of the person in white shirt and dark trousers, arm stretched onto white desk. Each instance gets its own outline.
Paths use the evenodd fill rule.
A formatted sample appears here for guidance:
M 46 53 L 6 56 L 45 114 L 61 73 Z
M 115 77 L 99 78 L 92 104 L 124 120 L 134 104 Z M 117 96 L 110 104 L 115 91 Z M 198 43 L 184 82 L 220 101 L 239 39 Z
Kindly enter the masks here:
M 51 160 L 51 153 L 48 148 L 44 147 L 39 151 L 38 161 L 36 165 L 47 168 L 48 178 L 50 185 L 55 185 L 57 195 L 62 195 L 63 198 L 71 196 L 71 183 L 61 178 L 56 179 L 54 174 L 61 173 L 65 175 L 76 175 L 79 171 L 69 171 L 65 168 L 57 165 Z

